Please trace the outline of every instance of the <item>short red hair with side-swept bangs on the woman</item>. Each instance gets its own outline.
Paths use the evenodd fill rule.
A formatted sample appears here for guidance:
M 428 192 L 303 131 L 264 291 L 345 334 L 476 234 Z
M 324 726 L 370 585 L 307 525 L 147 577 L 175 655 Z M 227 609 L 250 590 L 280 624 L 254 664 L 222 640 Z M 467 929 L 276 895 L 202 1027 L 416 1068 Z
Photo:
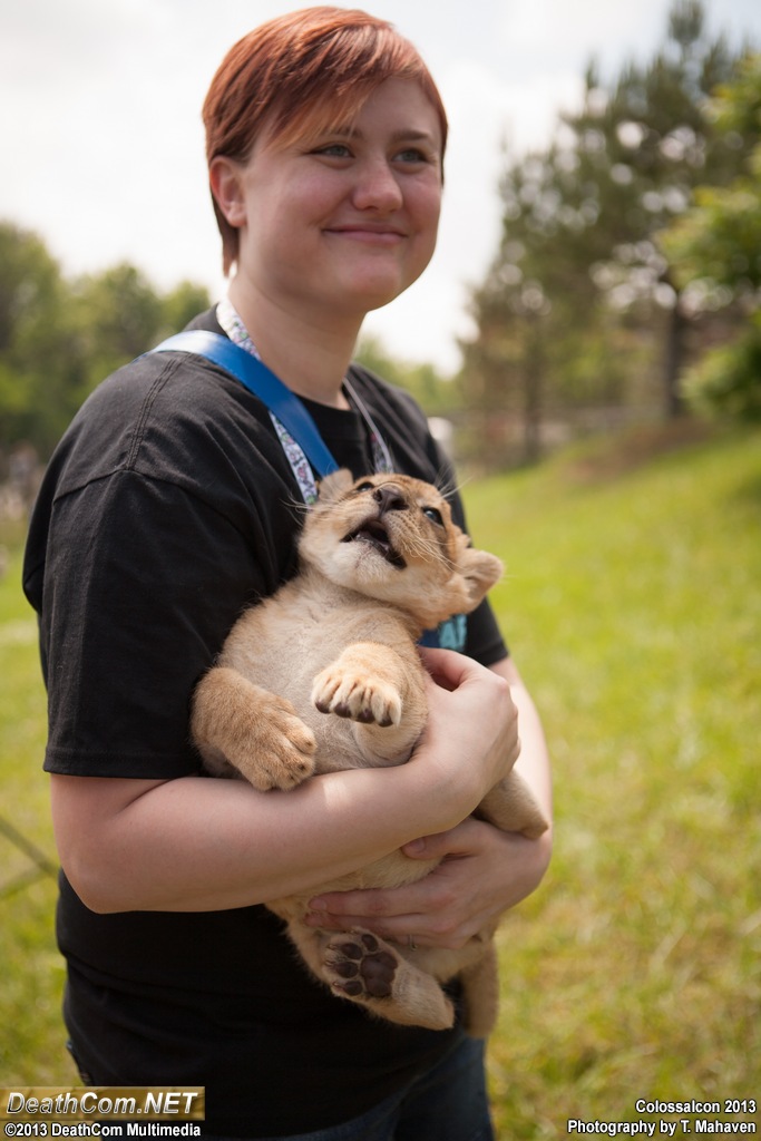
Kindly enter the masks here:
M 384 19 L 346 8 L 305 8 L 272 19 L 227 52 L 203 104 L 207 162 L 245 162 L 262 129 L 289 144 L 317 132 L 337 112 L 342 127 L 387 79 L 414 80 L 442 127 L 442 97 L 418 50 Z M 237 229 L 214 200 L 225 273 L 237 257 Z

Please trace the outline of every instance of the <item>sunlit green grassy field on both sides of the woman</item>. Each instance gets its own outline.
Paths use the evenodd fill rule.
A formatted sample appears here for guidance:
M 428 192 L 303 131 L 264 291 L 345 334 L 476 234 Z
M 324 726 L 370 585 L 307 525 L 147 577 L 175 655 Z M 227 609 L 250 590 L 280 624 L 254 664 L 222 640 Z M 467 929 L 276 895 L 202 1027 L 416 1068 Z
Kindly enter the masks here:
M 694 1125 L 635 1102 L 761 1092 L 761 434 L 651 445 L 465 487 L 556 771 L 551 872 L 500 933 L 505 1141 L 572 1118 Z M 17 567 L 0 583 L 0 822 L 51 859 Z M 0 857 L 0 889 L 31 866 L 2 833 Z M 73 1081 L 54 900 L 46 874 L 0 898 L 0 1085 Z

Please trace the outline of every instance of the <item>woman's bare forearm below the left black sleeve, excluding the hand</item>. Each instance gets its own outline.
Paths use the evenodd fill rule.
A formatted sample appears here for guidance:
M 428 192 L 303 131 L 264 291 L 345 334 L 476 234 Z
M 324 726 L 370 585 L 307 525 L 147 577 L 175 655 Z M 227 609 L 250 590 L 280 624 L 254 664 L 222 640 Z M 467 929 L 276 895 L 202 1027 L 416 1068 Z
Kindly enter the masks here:
M 94 911 L 266 903 L 309 890 L 412 839 L 418 814 L 405 812 L 405 803 L 420 794 L 407 776 L 353 770 L 288 793 L 203 777 L 161 783 L 54 776 L 62 865 Z

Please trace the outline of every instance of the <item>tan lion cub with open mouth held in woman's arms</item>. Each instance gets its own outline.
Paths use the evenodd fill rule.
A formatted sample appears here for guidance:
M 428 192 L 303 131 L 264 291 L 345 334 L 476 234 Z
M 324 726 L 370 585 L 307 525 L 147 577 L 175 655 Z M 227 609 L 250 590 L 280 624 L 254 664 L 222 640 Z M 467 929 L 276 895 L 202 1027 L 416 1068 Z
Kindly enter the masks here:
M 426 629 L 475 609 L 502 565 L 473 550 L 429 484 L 406 476 L 329 476 L 307 515 L 300 572 L 248 610 L 194 696 L 192 733 L 207 768 L 260 790 L 292 788 L 315 772 L 402 764 L 426 723 Z M 329 714 L 327 717 L 325 714 Z M 479 815 L 540 835 L 547 824 L 511 774 Z M 461 950 L 331 932 L 302 919 L 324 891 L 399 887 L 438 860 L 397 851 L 308 895 L 268 904 L 313 973 L 334 993 L 407 1026 L 446 1029 L 454 1009 L 440 982 L 461 976 L 465 1026 L 486 1036 L 496 1013 L 493 929 Z

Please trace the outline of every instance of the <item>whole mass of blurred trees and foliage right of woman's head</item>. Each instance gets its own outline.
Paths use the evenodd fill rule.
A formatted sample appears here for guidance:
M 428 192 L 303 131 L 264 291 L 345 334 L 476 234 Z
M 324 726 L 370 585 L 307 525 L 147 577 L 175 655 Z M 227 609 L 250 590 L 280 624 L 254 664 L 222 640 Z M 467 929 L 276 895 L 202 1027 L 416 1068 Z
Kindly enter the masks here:
M 502 240 L 472 293 L 461 377 L 489 467 L 535 460 L 548 429 L 683 413 L 686 370 L 742 337 L 758 305 L 736 268 L 758 268 L 758 74 L 748 46 L 710 38 L 698 0 L 678 0 L 650 62 L 612 82 L 590 64 L 584 106 L 551 145 L 505 155 Z M 744 228 L 714 227 L 689 265 L 685 241 L 662 241 L 696 202 L 718 195 L 726 215 L 739 191 Z M 721 293 L 705 288 L 709 254 Z

